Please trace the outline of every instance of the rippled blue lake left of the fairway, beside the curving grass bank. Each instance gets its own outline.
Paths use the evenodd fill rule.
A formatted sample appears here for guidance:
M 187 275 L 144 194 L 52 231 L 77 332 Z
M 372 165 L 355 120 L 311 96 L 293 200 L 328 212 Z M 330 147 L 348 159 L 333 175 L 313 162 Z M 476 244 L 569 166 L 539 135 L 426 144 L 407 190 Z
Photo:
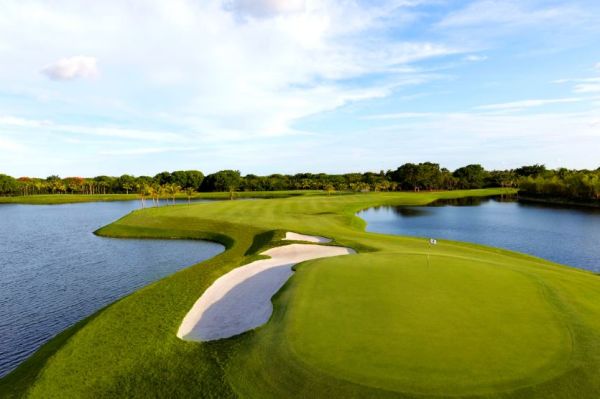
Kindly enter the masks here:
M 223 246 L 92 232 L 138 201 L 0 205 L 0 376 L 75 322 Z

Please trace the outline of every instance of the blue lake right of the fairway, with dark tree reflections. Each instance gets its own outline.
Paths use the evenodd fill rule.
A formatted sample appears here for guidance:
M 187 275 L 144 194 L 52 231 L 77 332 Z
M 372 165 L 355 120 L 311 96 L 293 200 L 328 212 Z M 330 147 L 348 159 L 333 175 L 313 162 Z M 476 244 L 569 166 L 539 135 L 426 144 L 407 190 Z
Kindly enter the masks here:
M 600 211 L 497 199 L 424 207 L 378 207 L 358 214 L 367 231 L 468 241 L 600 272 Z

